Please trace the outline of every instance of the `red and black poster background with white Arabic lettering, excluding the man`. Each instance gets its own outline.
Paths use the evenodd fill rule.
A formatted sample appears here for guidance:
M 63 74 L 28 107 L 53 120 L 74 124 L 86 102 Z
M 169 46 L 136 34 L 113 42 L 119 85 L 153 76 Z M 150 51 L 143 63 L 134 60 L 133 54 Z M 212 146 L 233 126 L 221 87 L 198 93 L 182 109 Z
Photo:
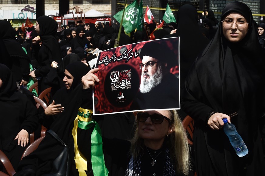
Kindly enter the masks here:
M 95 67 L 100 68 L 97 73 L 100 83 L 96 85 L 93 93 L 94 115 L 130 111 L 130 105 L 139 91 L 139 64 L 142 63 L 139 54 L 146 42 L 158 42 L 168 46 L 176 55 L 176 58 L 172 59 L 177 59 L 179 63 L 179 37 L 144 41 L 100 52 Z M 177 77 L 178 65 L 170 70 Z

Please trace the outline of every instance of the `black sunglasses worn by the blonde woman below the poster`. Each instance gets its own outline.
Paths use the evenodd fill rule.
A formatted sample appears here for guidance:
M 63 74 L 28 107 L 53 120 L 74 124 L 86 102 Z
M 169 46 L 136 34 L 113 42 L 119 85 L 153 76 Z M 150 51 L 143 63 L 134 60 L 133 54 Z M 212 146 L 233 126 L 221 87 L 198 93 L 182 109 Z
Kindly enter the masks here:
M 145 122 L 148 117 L 151 118 L 152 123 L 154 124 L 161 124 L 164 120 L 164 118 L 168 121 L 168 123 L 171 124 L 171 120 L 167 118 L 164 115 L 159 115 L 159 114 L 147 114 L 144 112 L 138 112 L 136 113 L 137 115 L 137 120 L 140 122 Z

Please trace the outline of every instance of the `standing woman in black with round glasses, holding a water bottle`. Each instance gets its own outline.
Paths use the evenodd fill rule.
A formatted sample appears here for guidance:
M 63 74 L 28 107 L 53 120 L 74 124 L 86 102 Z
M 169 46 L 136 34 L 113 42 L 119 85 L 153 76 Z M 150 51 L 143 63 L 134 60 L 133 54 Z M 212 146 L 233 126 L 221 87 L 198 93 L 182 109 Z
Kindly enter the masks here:
M 197 175 L 265 174 L 259 131 L 265 110 L 263 58 L 250 8 L 229 3 L 216 35 L 192 66 L 182 96 L 182 109 L 195 120 Z M 230 119 L 233 112 L 238 115 Z M 246 156 L 237 156 L 221 129 L 223 118 L 236 126 L 249 150 Z

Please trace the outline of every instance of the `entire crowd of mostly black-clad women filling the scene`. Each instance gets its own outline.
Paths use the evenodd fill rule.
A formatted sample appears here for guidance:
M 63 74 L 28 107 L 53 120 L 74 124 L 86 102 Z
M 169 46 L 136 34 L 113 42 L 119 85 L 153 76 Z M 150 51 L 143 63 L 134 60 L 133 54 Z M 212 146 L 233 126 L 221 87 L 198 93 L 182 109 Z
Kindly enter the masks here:
M 220 21 L 213 11 L 202 18 L 194 6 L 182 5 L 176 23 L 155 31 L 155 39 L 180 37 L 180 77 L 169 71 L 177 63 L 163 57 L 172 51 L 146 43 L 140 52 L 141 86 L 131 109 L 155 110 L 137 113 L 93 116 L 92 92 L 101 80 L 90 61 L 114 48 L 119 24 L 66 25 L 57 32 L 53 18 L 40 16 L 26 37 L 8 21 L 0 25 L 0 150 L 15 176 L 58 175 L 53 162 L 65 146 L 49 132 L 21 159 L 40 125 L 69 148 L 63 175 L 265 175 L 265 23 L 257 25 L 246 4 L 229 3 Z M 158 25 L 145 24 L 130 36 L 122 27 L 118 44 L 148 41 Z M 160 82 L 151 87 L 158 71 L 168 90 Z M 28 91 L 35 82 L 35 96 L 51 87 L 45 110 L 36 108 Z M 161 91 L 166 97 L 158 102 Z M 181 109 L 171 110 L 179 99 Z M 144 101 L 140 105 L 138 100 Z M 233 112 L 237 115 L 230 118 Z M 194 119 L 193 146 L 182 125 L 187 115 Z M 223 118 L 236 126 L 249 150 L 246 156 L 236 155 L 222 130 Z M 0 171 L 5 172 L 2 165 Z

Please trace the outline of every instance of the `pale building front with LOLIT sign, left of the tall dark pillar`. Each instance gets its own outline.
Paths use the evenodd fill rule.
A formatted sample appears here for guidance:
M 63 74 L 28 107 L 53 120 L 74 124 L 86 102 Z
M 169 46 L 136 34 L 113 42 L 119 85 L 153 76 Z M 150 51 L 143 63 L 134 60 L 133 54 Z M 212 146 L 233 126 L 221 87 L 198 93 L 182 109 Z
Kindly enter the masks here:
M 29 18 L 33 23 L 36 22 L 36 1 L 38 0 L 1 0 L 0 20 L 12 20 L 14 27 L 20 27 Z M 69 8 L 75 6 L 87 12 L 91 9 L 105 14 L 111 14 L 111 0 L 70 0 Z M 59 15 L 59 0 L 44 1 L 44 15 Z

